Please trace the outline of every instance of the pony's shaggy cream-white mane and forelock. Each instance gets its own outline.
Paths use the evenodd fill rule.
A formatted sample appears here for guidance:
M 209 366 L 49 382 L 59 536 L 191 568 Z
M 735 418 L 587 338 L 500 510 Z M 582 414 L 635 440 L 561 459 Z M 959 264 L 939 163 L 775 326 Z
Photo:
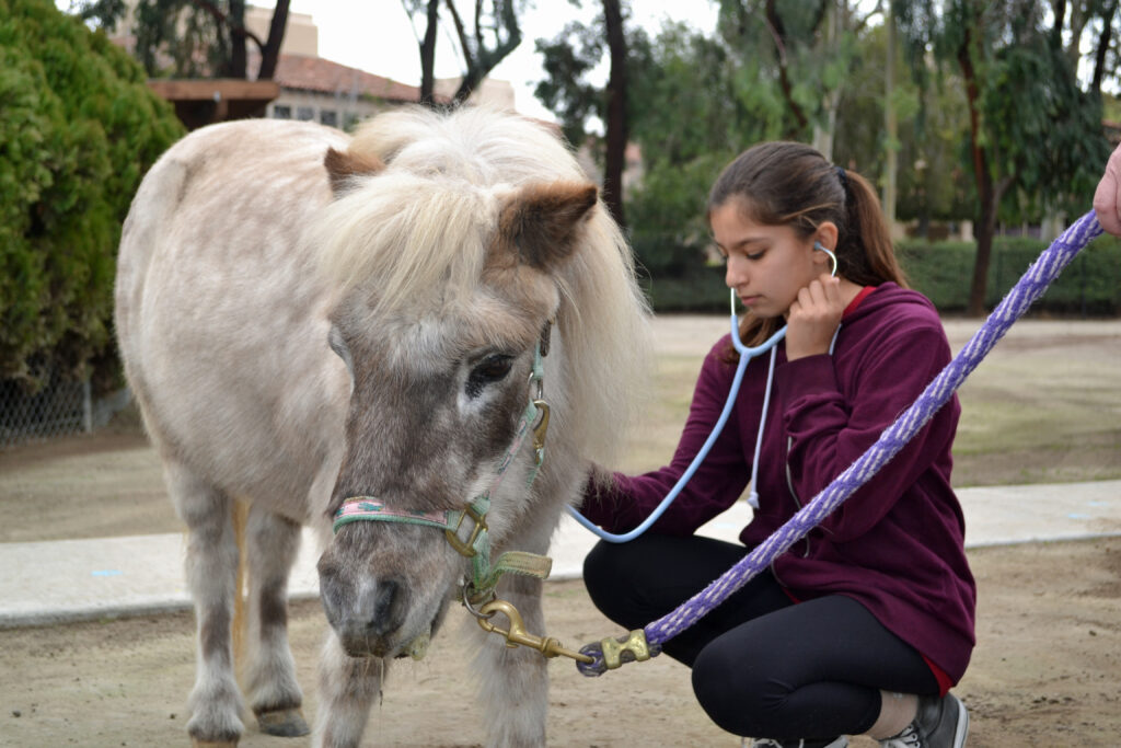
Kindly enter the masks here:
M 528 184 L 586 181 L 544 124 L 485 108 L 380 114 L 350 149 L 386 169 L 353 179 L 324 210 L 313 242 L 321 267 L 344 292 L 369 283 L 382 310 L 430 304 L 433 289 L 443 289 L 439 307 L 473 293 L 502 196 Z M 627 396 L 645 389 L 649 372 L 648 308 L 633 277 L 630 248 L 599 203 L 554 277 L 567 390 L 557 417 L 580 452 L 599 462 L 622 446 L 633 415 Z

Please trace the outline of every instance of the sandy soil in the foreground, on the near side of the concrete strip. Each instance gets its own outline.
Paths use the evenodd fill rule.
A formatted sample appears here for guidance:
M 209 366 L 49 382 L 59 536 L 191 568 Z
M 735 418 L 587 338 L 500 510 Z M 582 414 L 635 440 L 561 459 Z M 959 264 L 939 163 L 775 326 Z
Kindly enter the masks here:
M 970 746 L 1119 745 L 1121 538 L 986 548 L 971 562 L 980 584 L 979 646 L 956 690 L 972 713 Z M 549 634 L 565 644 L 614 632 L 580 582 L 549 583 L 545 612 Z M 324 626 L 316 602 L 294 607 L 293 646 L 308 715 L 316 708 Z M 395 664 L 367 746 L 481 745 L 461 639 L 452 626 L 425 661 Z M 0 631 L 0 745 L 187 745 L 193 652 L 186 613 Z M 549 745 L 739 745 L 707 722 L 687 671 L 667 657 L 593 680 L 567 662 L 554 661 L 549 669 Z M 306 741 L 251 727 L 242 745 Z

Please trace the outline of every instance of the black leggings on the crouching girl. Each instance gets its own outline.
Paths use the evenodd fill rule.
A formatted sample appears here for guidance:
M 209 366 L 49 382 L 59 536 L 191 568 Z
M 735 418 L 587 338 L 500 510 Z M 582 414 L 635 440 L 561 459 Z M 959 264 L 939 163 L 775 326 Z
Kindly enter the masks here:
M 706 537 L 647 534 L 601 542 L 584 561 L 592 601 L 628 630 L 669 612 L 748 552 Z M 693 668 L 708 717 L 740 736 L 797 739 L 867 732 L 880 690 L 936 694 L 912 647 L 843 595 L 795 604 L 763 572 L 665 644 Z

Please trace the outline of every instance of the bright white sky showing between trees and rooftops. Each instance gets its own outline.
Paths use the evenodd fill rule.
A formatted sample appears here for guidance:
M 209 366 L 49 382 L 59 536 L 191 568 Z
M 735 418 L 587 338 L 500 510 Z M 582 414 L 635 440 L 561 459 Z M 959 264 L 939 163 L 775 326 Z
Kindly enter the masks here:
M 253 4 L 271 8 L 275 2 L 257 0 Z M 601 4 L 600 0 L 583 0 L 583 9 L 574 8 L 567 0 L 536 0 L 534 4 L 520 19 L 521 44 L 491 72 L 491 77 L 513 85 L 518 111 L 555 120 L 534 98 L 534 86 L 545 77 L 534 41 L 553 38 L 571 20 L 591 20 Z M 686 21 L 704 31 L 711 31 L 716 22 L 716 9 L 710 0 L 633 0 L 632 6 L 634 19 L 651 34 L 667 18 Z M 460 7 L 470 8 L 471 3 Z M 291 0 L 290 11 L 312 16 L 319 30 L 319 56 L 409 85 L 420 84 L 417 35 L 424 34 L 424 19 L 419 19 L 414 30 L 400 0 Z M 464 21 L 470 24 L 467 18 Z M 456 56 L 457 45 L 452 44 L 444 24 L 441 28 L 436 77 L 455 77 L 463 72 Z

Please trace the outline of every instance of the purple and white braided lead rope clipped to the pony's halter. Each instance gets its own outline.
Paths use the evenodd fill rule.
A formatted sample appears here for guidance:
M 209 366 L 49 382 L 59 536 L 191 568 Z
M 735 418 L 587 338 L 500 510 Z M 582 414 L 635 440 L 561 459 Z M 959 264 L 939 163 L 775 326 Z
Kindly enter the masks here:
M 1012 323 L 1043 296 L 1074 256 L 1101 233 L 1102 228 L 1097 224 L 1097 219 L 1093 213 L 1087 213 L 1051 242 L 1051 246 L 1008 292 L 965 348 L 934 378 L 915 404 L 884 430 L 880 438 L 864 454 L 720 579 L 686 600 L 676 610 L 646 626 L 643 630 L 651 652 L 660 650 L 664 643 L 703 618 L 760 571 L 767 569 L 777 556 L 785 553 L 868 482 L 915 436 L 938 408 L 946 404 L 997 341 L 1003 338 Z M 602 653 L 592 652 L 596 646 L 589 645 L 582 649 L 595 658 L 591 665 L 577 663 L 584 675 L 594 676 L 604 672 L 600 669 L 604 667 Z

